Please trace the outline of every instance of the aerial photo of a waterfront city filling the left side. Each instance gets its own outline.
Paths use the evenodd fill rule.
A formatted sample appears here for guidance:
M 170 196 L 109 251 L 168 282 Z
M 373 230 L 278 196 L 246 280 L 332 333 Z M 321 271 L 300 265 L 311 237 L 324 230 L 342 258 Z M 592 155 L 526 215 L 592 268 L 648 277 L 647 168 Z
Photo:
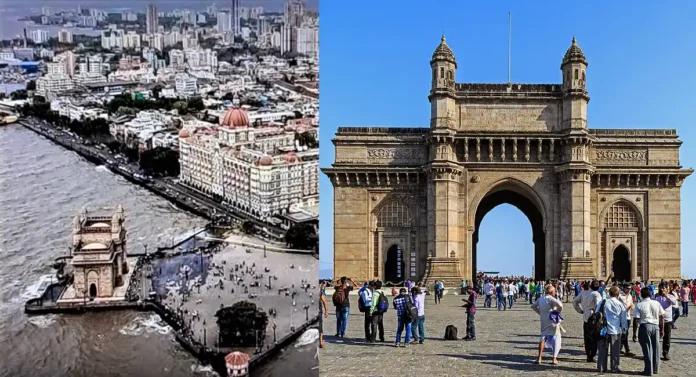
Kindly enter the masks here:
M 43 5 L 3 9 L 0 375 L 318 375 L 318 9 Z

